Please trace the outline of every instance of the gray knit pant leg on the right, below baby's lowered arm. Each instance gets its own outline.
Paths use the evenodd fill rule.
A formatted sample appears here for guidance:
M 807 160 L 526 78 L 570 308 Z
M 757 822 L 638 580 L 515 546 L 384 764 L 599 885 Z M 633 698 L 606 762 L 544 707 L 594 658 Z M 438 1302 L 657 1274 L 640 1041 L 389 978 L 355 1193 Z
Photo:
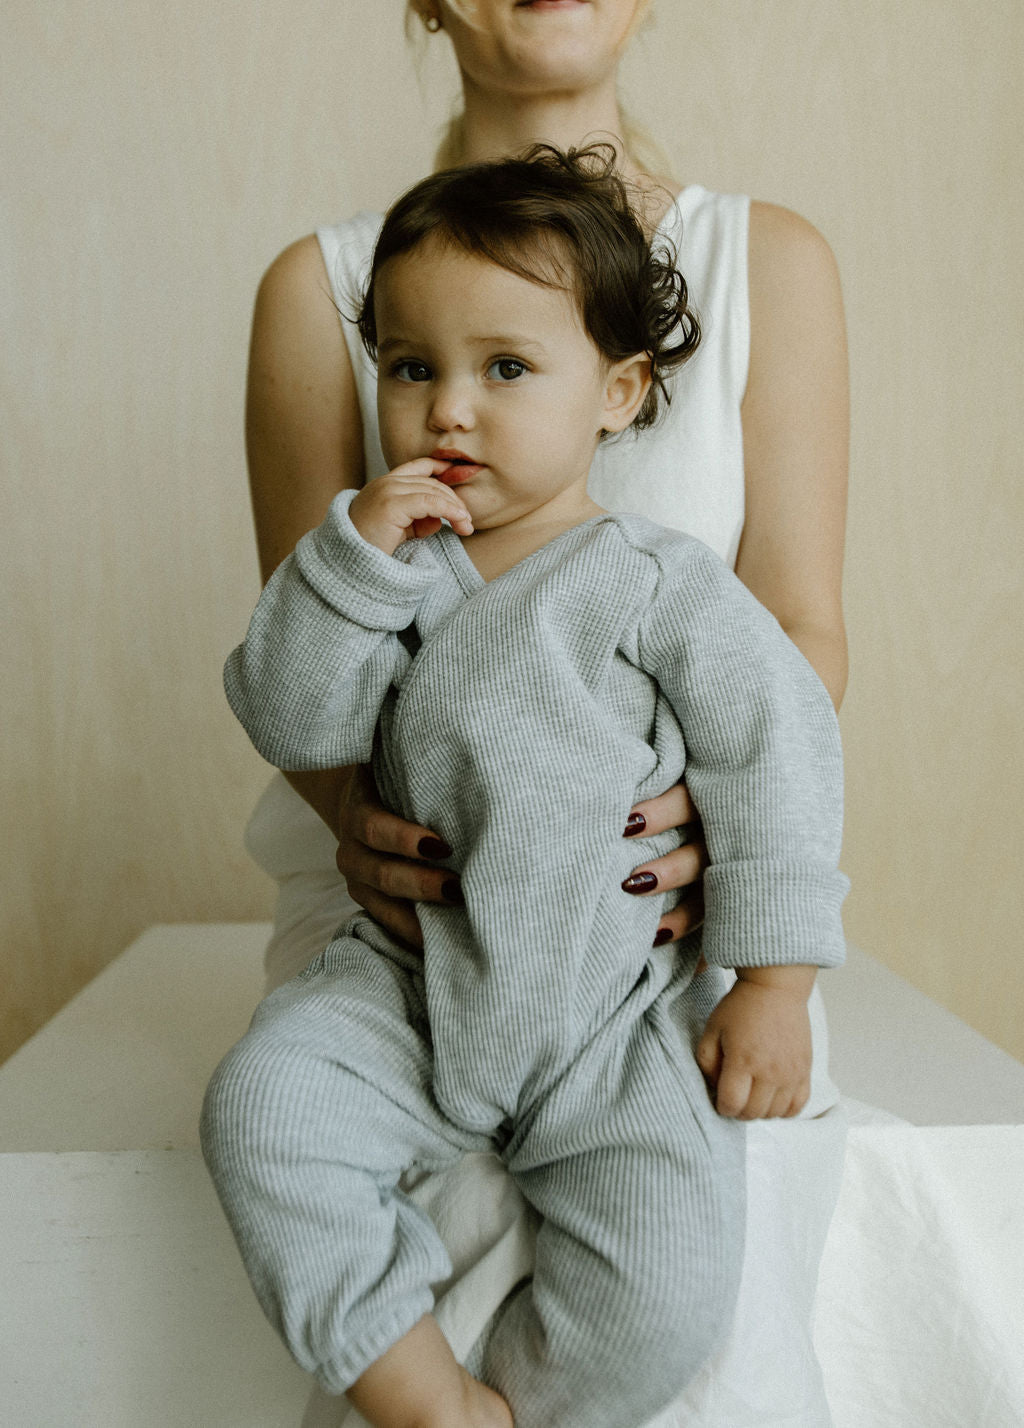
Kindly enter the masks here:
M 728 1328 L 744 1232 L 744 1137 L 710 1104 L 671 998 L 608 1027 L 507 1157 L 544 1217 L 483 1378 L 517 1428 L 634 1428 Z

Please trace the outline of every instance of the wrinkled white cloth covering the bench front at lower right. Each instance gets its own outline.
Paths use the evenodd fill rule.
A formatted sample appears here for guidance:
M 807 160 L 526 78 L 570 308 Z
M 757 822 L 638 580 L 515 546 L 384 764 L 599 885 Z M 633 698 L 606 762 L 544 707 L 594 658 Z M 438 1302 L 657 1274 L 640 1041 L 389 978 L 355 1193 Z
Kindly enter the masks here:
M 814 1327 L 835 1428 L 1024 1424 L 1021 1185 L 1024 1125 L 851 1125 Z

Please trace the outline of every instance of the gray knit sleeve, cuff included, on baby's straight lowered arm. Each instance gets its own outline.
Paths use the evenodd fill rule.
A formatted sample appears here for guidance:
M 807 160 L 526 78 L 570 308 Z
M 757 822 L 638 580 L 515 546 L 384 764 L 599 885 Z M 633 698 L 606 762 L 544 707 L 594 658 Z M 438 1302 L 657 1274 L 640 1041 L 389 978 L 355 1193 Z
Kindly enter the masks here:
M 704 824 L 704 957 L 838 965 L 843 754 L 820 678 L 697 541 L 661 561 L 640 648 L 683 725 L 687 788 Z

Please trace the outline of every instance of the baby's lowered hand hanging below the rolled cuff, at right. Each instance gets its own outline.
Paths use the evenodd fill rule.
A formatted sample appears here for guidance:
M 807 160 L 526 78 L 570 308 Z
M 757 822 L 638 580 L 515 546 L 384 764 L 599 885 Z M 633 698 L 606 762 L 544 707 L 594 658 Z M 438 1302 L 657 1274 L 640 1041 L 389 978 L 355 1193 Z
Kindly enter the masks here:
M 797 1115 L 811 1091 L 813 967 L 744 967 L 707 1018 L 697 1064 L 720 1115 Z

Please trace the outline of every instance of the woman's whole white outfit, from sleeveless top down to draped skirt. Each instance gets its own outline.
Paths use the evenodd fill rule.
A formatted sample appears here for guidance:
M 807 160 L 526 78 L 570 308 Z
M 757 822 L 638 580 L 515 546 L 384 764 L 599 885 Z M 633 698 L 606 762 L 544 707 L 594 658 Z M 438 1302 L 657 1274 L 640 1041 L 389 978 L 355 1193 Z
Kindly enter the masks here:
M 658 237 L 674 246 L 704 341 L 671 380 L 664 420 L 636 437 L 606 443 L 591 494 L 608 510 L 640 511 L 688 531 L 734 564 L 743 531 L 744 473 L 740 404 L 747 381 L 748 200 L 700 186 L 683 190 Z M 376 416 L 376 371 L 351 318 L 368 270 L 380 216 L 361 213 L 321 230 L 364 423 L 367 478 L 386 471 Z M 256 861 L 277 878 L 267 980 L 280 985 L 327 944 L 354 911 L 334 865 L 336 843 L 281 775 L 247 828 Z M 814 1075 L 800 1121 L 750 1127 L 747 1225 L 740 1304 L 730 1341 L 707 1372 L 651 1428 L 828 1428 L 821 1372 L 811 1341 L 814 1284 L 841 1175 L 845 1120 L 828 1080 L 820 995 L 811 998 Z M 438 1285 L 437 1318 L 466 1355 L 513 1285 L 530 1269 L 530 1212 L 497 1160 L 470 1155 L 456 1170 L 424 1177 L 414 1190 L 437 1220 L 456 1265 Z M 737 1227 L 743 1234 L 743 1227 Z M 314 1392 L 303 1428 L 356 1428 L 344 1399 Z M 638 1428 L 638 1425 L 623 1425 Z

